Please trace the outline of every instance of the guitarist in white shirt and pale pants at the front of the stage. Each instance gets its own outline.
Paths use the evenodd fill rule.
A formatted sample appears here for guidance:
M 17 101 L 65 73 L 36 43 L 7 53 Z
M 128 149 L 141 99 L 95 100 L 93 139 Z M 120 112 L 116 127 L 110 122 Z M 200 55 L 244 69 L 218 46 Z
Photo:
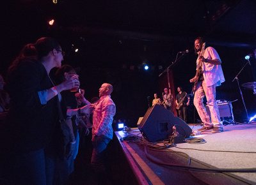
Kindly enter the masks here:
M 196 71 L 199 71 L 200 75 L 196 73 L 195 77 L 191 78 L 189 81 L 194 82 L 194 86 L 196 84 L 194 105 L 202 122 L 204 122 L 204 126 L 198 129 L 198 131 L 211 130 L 212 133 L 222 132 L 223 126 L 220 121 L 220 112 L 215 99 L 216 86 L 225 82 L 221 68 L 221 59 L 218 52 L 212 47 L 207 47 L 205 50 L 202 50 L 202 48 L 204 48 L 204 40 L 201 37 L 195 39 L 194 48 L 195 53 L 198 54 L 198 58 L 196 59 Z M 205 110 L 203 103 L 204 96 L 206 96 L 211 112 L 211 119 Z

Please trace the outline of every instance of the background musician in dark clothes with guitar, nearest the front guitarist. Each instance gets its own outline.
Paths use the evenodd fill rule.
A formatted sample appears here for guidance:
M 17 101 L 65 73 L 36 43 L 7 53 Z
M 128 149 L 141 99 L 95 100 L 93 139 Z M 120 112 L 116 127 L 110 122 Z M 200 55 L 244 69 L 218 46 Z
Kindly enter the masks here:
M 188 109 L 190 98 L 186 92 L 182 91 L 182 87 L 177 87 L 177 91 L 178 91 L 178 94 L 176 95 L 175 103 L 179 113 L 179 117 L 183 121 L 188 122 L 187 109 Z

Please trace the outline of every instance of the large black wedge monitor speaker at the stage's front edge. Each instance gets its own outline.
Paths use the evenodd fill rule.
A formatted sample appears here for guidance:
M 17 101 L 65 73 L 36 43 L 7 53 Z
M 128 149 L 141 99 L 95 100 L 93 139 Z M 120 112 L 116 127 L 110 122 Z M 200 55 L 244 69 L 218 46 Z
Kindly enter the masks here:
M 175 126 L 179 136 L 188 138 L 192 129 L 179 117 L 176 117 L 161 105 L 154 105 L 148 108 L 138 128 L 143 137 L 149 142 L 164 140 L 173 133 Z

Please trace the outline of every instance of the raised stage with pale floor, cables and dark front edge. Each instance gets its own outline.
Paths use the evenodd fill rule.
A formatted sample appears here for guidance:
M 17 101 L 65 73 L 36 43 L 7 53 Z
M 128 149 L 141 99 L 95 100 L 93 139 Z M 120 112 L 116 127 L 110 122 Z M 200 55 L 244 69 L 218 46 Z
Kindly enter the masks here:
M 201 127 L 189 126 L 193 130 Z M 143 138 L 138 142 L 138 128 L 115 134 L 138 184 L 256 184 L 255 122 L 228 124 L 222 133 L 196 135 L 205 140 L 203 144 L 182 143 L 162 150 L 148 147 Z M 244 172 L 237 172 L 242 168 Z

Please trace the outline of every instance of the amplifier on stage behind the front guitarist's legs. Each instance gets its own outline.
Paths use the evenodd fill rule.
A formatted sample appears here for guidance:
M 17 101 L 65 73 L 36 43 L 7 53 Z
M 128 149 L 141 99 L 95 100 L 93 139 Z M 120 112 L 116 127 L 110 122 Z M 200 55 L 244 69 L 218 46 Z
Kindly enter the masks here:
M 231 101 L 218 101 L 217 104 L 220 112 L 220 117 L 230 117 L 232 120 L 234 120 Z M 208 105 L 206 105 L 206 111 L 207 114 L 211 117 Z

